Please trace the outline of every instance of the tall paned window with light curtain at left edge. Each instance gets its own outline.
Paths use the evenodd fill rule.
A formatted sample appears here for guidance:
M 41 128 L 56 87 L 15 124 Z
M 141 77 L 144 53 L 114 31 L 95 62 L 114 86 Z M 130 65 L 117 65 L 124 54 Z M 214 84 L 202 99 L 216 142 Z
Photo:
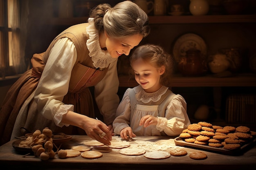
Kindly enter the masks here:
M 27 0 L 0 0 L 0 78 L 2 79 L 25 71 L 26 26 L 24 25 L 27 22 L 24 21 L 28 13 L 27 4 Z

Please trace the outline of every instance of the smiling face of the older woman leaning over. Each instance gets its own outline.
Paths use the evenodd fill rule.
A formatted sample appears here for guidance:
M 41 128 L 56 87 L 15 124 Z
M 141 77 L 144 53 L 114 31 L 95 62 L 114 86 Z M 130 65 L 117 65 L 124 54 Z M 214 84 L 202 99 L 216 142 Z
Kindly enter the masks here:
M 107 37 L 106 47 L 112 58 L 118 58 L 122 54 L 129 55 L 130 50 L 139 45 L 143 38 L 141 34 L 131 35 L 126 38 L 111 38 L 107 34 L 105 35 Z

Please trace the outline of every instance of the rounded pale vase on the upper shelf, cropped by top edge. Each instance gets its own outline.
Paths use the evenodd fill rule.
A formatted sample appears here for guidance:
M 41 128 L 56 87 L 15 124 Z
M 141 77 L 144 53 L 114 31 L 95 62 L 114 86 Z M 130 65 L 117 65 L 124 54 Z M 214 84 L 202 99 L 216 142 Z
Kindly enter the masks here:
M 192 15 L 206 15 L 209 11 L 208 0 L 190 0 L 189 11 Z

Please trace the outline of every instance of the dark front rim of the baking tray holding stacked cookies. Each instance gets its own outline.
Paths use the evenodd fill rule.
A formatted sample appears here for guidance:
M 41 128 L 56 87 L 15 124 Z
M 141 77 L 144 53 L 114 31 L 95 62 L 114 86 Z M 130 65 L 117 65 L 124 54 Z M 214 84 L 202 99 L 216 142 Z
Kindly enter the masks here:
M 240 154 L 244 153 L 245 151 L 247 151 L 252 146 L 254 146 L 256 139 L 252 140 L 248 144 L 241 146 L 240 148 L 238 148 L 236 150 L 227 150 L 227 149 L 224 149 L 223 147 L 215 148 L 215 147 L 206 146 L 206 145 L 189 143 L 189 142 L 182 140 L 181 137 L 176 137 L 174 139 L 174 142 L 175 142 L 175 145 L 177 145 L 177 146 L 196 148 L 196 149 L 200 149 L 200 150 L 206 150 L 209 152 L 218 152 L 218 153 L 225 154 L 225 155 L 240 155 Z

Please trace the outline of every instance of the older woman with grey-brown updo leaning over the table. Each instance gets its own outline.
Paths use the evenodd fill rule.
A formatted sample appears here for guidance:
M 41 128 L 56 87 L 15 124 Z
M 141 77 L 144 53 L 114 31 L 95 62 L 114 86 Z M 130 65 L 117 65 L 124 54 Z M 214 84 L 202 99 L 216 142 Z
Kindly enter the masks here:
M 0 110 L 1 144 L 48 127 L 81 134 L 109 145 L 119 104 L 117 58 L 128 55 L 149 34 L 147 14 L 135 3 L 99 4 L 88 23 L 59 34 L 44 53 L 34 54 L 32 68 L 13 84 Z M 104 123 L 93 119 L 94 95 Z

